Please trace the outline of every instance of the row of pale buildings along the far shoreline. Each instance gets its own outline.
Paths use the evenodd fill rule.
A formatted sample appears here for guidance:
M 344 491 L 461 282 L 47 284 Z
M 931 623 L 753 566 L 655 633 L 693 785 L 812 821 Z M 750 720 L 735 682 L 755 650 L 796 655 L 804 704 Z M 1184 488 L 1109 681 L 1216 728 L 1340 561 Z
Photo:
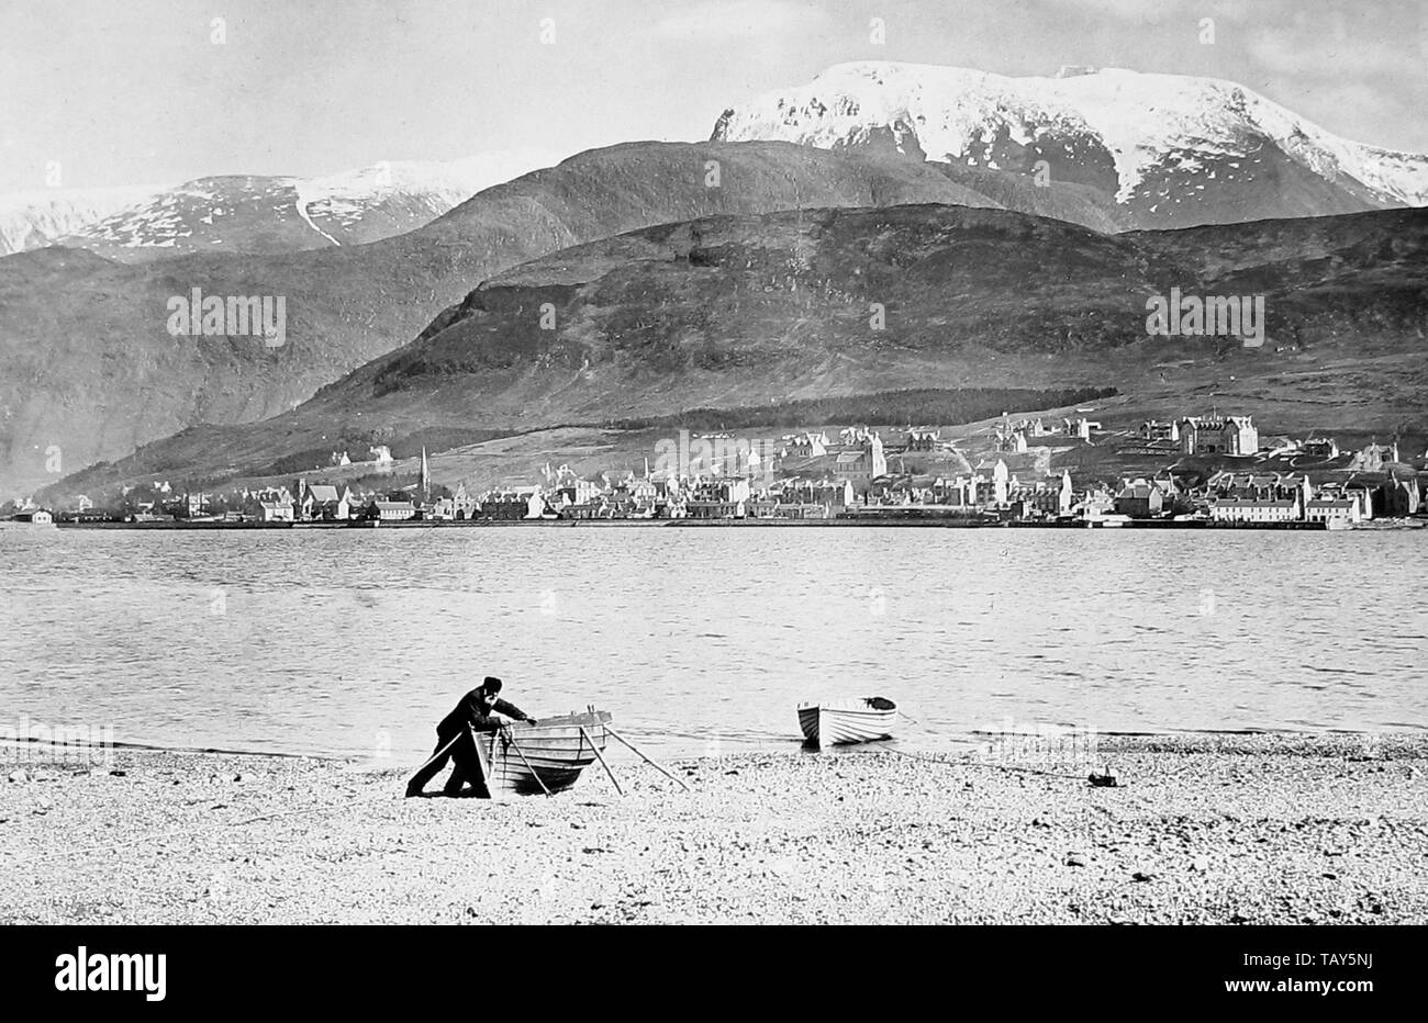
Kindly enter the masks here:
M 1115 437 L 1124 438 L 1125 434 Z M 705 435 L 701 441 L 728 441 Z M 1399 462 L 1398 445 L 1341 452 L 1335 441 L 1277 438 L 1261 447 L 1247 415 L 1151 419 L 1122 444 L 1107 444 L 1087 418 L 1002 417 L 968 457 L 940 431 L 848 427 L 788 434 L 760 442 L 761 457 L 714 459 L 700 469 L 664 465 L 643 474 L 581 475 L 545 467 L 540 482 L 471 495 L 463 487 L 431 497 L 426 452 L 418 482 L 387 492 L 313 482 L 243 489 L 217 499 L 157 488 L 131 516 L 251 522 L 407 522 L 516 519 L 825 519 L 925 514 L 1015 521 L 1204 519 L 1218 524 L 1342 522 L 1418 515 L 1428 502 L 1428 472 Z M 1117 448 L 1117 445 L 1120 445 Z M 1167 467 L 1145 477 L 1085 472 L 1080 487 L 1054 455 L 1114 448 L 1164 454 Z M 1271 449 L 1272 448 L 1272 449 Z M 718 449 L 718 448 L 717 448 Z M 1195 457 L 1195 458 L 1187 458 Z M 1152 459 L 1154 461 L 1154 459 Z M 1081 462 L 1074 462 L 1081 464 Z M 1094 462 L 1087 462 L 1094 464 Z M 1207 465 L 1244 465 L 1212 469 Z M 1305 469 L 1284 467 L 1308 465 Z M 74 515 L 89 511 L 86 499 Z M 1428 511 L 1428 509 L 1425 509 Z

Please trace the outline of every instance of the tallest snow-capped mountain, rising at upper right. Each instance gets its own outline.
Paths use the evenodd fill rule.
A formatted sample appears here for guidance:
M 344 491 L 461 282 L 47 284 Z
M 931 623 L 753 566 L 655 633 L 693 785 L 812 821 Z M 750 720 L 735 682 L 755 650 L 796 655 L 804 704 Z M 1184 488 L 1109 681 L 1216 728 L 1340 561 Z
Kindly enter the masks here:
M 725 110 L 714 140 L 895 146 L 1092 185 L 1131 223 L 1187 225 L 1428 204 L 1428 156 L 1364 146 L 1218 78 L 1062 68 L 1004 77 L 837 64 Z

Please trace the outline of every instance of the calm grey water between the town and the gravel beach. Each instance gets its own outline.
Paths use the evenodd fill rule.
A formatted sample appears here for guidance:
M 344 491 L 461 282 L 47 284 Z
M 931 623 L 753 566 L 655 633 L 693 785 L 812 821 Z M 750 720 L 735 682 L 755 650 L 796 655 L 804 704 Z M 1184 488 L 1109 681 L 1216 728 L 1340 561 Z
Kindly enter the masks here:
M 665 755 L 883 693 L 978 729 L 1428 726 L 1417 532 L 0 531 L 0 715 L 420 759 L 483 675 Z

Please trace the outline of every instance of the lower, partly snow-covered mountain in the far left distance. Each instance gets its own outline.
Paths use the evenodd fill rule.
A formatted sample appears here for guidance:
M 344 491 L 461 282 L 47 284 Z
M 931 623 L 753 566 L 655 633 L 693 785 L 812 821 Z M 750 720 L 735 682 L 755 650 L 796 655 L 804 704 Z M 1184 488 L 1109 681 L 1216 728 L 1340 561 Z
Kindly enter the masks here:
M 44 208 L 20 207 L 0 254 L 63 244 L 133 263 L 361 244 L 421 227 L 477 191 L 550 163 L 555 158 L 547 153 L 508 151 L 448 163 L 378 163 L 313 178 L 206 177 L 173 188 L 127 190 L 124 201 L 104 207 L 76 203 L 67 220 L 53 223 L 43 218 Z M 0 218 L 4 208 L 0 204 Z

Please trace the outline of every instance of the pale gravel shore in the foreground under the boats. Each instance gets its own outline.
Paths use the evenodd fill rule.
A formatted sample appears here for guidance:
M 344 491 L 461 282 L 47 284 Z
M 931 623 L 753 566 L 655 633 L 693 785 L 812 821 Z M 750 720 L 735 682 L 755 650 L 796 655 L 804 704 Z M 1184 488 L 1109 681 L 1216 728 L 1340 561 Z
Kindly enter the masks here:
M 683 792 L 615 756 L 624 798 L 593 765 L 504 802 L 403 799 L 416 765 L 10 763 L 0 923 L 1428 922 L 1419 735 L 1098 758 L 1118 786 L 864 746 L 677 762 Z

